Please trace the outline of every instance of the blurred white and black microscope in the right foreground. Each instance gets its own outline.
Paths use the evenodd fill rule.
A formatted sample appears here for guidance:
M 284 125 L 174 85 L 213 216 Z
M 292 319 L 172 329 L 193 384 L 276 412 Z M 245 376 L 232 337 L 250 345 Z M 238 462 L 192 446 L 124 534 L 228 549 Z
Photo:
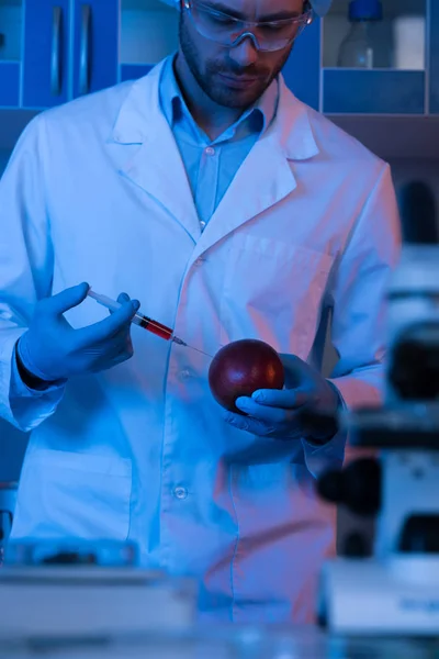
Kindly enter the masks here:
M 373 555 L 351 546 L 320 574 L 318 619 L 334 634 L 439 635 L 439 241 L 430 189 L 412 182 L 399 201 L 383 406 L 339 418 L 350 444 L 376 458 L 317 483 L 326 501 L 375 518 Z

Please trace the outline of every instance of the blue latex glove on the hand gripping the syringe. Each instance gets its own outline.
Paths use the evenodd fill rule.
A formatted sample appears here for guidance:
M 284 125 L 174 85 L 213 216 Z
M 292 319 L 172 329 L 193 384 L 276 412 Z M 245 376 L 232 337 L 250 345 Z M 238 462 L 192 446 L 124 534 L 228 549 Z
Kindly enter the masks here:
M 121 309 L 99 323 L 74 330 L 63 314 L 83 302 L 88 291 L 89 286 L 81 283 L 36 304 L 16 347 L 31 375 L 46 382 L 67 380 L 106 370 L 133 356 L 130 328 L 139 302 L 123 293 Z

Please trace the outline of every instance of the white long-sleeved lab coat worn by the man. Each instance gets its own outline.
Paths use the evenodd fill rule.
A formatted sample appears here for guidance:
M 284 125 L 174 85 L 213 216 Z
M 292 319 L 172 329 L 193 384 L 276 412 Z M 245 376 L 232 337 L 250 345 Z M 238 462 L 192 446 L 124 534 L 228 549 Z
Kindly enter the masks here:
M 335 382 L 347 405 L 380 398 L 398 243 L 389 167 L 281 80 L 275 122 L 202 234 L 160 70 L 36 118 L 0 185 L 0 409 L 33 429 L 12 537 L 130 538 L 143 565 L 201 578 L 206 616 L 309 622 L 334 551 L 315 476 L 340 463 L 342 437 L 315 449 L 229 427 L 209 359 L 136 326 L 128 362 L 60 391 L 11 390 L 36 300 L 88 281 L 210 354 L 258 337 L 312 360 L 334 303 Z M 68 320 L 105 314 L 87 300 Z

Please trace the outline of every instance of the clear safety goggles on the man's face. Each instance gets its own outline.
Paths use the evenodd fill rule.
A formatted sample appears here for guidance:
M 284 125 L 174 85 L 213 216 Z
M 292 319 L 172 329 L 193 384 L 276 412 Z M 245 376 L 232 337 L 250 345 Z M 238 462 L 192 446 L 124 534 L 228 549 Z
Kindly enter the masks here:
M 243 21 L 198 0 L 184 0 L 183 10 L 205 38 L 229 48 L 251 38 L 258 51 L 269 53 L 286 48 L 313 22 L 313 10 L 297 18 L 269 22 Z

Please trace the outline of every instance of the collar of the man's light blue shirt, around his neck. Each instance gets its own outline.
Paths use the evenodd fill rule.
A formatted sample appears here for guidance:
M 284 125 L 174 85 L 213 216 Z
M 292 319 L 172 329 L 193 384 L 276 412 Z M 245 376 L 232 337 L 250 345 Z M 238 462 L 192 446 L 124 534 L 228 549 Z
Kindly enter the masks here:
M 161 110 L 171 129 L 173 129 L 177 123 L 185 121 L 189 124 L 193 136 L 200 138 L 200 135 L 202 135 L 205 141 L 210 142 L 207 136 L 204 135 L 202 130 L 196 125 L 183 99 L 173 70 L 176 57 L 177 56 L 168 57 L 162 69 L 160 79 Z M 275 116 L 278 101 L 279 83 L 278 80 L 273 80 L 255 105 L 248 108 L 215 142 L 239 138 L 250 133 L 259 133 L 261 135 L 267 131 Z

